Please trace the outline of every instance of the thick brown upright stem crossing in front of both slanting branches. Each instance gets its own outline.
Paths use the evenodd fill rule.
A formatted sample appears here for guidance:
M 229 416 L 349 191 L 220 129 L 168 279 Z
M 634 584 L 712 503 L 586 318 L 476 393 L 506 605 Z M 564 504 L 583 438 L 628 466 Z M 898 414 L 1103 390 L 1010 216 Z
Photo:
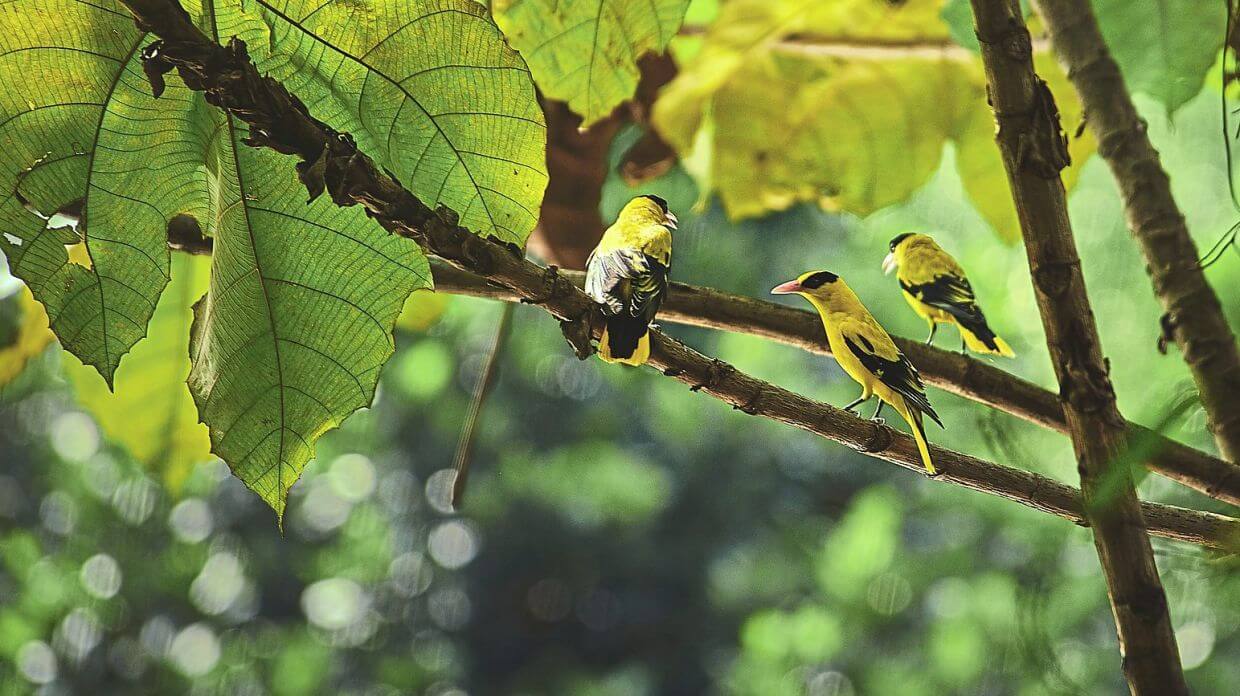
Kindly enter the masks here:
M 1076 450 L 1085 512 L 1102 564 L 1135 695 L 1187 695 L 1167 596 L 1127 469 L 1127 428 L 1115 392 L 1059 171 L 1068 141 L 1050 91 L 1033 69 L 1029 31 L 1016 0 L 971 0 L 997 140 L 1024 233 L 1047 347 Z

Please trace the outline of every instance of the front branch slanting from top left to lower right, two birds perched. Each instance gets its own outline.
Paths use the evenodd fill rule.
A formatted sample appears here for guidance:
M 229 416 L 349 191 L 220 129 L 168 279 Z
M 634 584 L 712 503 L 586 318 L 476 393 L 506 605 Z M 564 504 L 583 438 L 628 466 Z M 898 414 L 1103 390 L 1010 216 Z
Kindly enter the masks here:
M 556 268 L 541 268 L 520 249 L 485 239 L 459 227 L 445 208 L 432 211 L 378 169 L 352 145 L 352 138 L 311 117 L 306 107 L 275 79 L 263 77 L 249 61 L 244 43 L 221 47 L 202 35 L 175 0 L 124 0 L 148 31 L 164 37 L 154 53 L 174 66 L 191 89 L 250 124 L 254 146 L 298 155 L 298 171 L 311 191 L 317 185 L 341 206 L 362 205 L 370 217 L 392 233 L 409 237 L 453 264 L 508 288 L 562 321 L 562 330 L 579 355 L 589 355 L 589 339 L 601 330 L 598 306 Z M 322 180 L 312 176 L 321 172 Z M 651 365 L 694 391 L 704 391 L 751 414 L 789 423 L 866 452 L 875 458 L 921 470 L 913 439 L 887 426 L 862 421 L 737 371 L 730 365 L 652 332 Z M 983 462 L 935 447 L 944 471 L 936 480 L 991 493 L 1078 524 L 1086 524 L 1079 491 L 1047 476 Z M 1240 548 L 1240 520 L 1223 515 L 1148 504 L 1149 530 L 1168 538 L 1215 548 Z

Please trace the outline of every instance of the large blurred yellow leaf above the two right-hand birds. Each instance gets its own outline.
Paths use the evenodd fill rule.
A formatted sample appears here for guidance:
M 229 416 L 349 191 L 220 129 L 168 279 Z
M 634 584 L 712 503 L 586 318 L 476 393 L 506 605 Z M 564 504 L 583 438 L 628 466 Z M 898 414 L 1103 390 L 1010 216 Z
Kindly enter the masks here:
M 733 218 L 802 201 L 868 215 L 924 185 L 952 143 L 973 203 L 1016 238 L 980 60 L 906 48 L 947 40 L 939 12 L 936 0 L 810 10 L 795 0 L 728 2 L 656 102 L 655 125 Z M 872 50 L 852 50 L 859 43 Z M 1038 60 L 1073 128 L 1075 94 L 1060 88 L 1053 61 Z M 1075 163 L 1092 149 L 1089 135 L 1074 140 Z M 1078 170 L 1064 174 L 1065 184 Z

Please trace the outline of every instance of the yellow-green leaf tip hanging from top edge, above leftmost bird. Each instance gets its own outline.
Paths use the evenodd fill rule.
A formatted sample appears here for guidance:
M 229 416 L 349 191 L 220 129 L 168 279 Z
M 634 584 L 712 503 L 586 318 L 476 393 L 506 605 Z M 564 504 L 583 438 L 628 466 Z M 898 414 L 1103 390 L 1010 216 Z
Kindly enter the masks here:
M 688 5 L 689 0 L 496 0 L 492 11 L 543 93 L 568 102 L 588 127 L 632 97 L 637 58 L 667 48 Z

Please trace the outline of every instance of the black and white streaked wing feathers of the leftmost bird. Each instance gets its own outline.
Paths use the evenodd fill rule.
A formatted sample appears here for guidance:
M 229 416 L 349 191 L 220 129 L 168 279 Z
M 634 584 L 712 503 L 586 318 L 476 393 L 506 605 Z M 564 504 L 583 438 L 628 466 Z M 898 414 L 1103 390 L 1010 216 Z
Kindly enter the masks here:
M 636 249 L 595 252 L 587 264 L 585 292 L 606 314 L 649 323 L 667 297 L 667 265 Z

